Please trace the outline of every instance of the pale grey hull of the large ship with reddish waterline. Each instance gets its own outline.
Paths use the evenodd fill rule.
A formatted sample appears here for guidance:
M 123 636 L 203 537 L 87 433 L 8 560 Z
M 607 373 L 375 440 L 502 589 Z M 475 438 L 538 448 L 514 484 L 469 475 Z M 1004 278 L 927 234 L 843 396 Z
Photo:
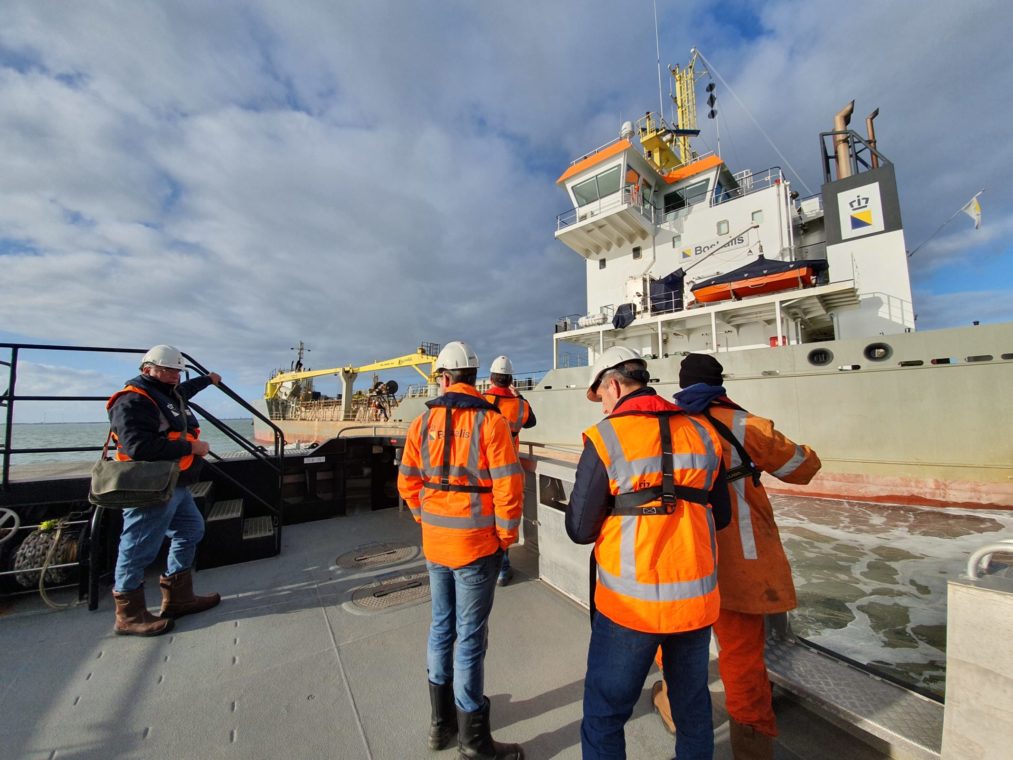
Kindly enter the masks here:
M 879 361 L 867 355 L 887 356 Z M 831 361 L 815 366 L 814 351 Z M 832 499 L 1013 509 L 1013 323 L 718 353 L 728 395 L 811 446 L 823 470 L 802 489 L 767 478 L 771 490 Z M 650 360 L 651 385 L 678 392 L 682 356 Z M 585 396 L 588 369 L 552 370 L 525 392 L 538 447 L 578 451 L 601 419 Z M 403 424 L 424 399 L 397 407 Z M 340 423 L 278 421 L 290 442 L 327 440 Z

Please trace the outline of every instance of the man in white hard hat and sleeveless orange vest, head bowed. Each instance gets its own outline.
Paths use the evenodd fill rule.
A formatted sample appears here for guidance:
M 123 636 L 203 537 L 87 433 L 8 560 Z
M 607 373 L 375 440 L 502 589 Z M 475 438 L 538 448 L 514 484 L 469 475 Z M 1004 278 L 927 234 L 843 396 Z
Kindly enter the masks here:
M 592 367 L 588 399 L 605 419 L 585 431 L 566 533 L 595 544 L 592 632 L 583 686 L 585 760 L 626 757 L 624 727 L 661 649 L 676 717 L 676 755 L 711 758 L 707 688 L 717 619 L 715 532 L 730 508 L 721 440 L 647 383 L 627 347 Z

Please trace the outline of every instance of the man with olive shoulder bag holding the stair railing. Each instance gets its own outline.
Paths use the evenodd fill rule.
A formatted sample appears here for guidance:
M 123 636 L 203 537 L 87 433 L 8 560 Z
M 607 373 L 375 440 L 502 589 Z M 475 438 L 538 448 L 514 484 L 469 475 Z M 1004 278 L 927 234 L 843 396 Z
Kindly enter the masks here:
M 113 630 L 120 635 L 156 636 L 172 629 L 173 620 L 202 612 L 221 601 L 218 594 L 193 594 L 192 565 L 204 537 L 204 518 L 188 486 L 197 482 L 202 457 L 210 447 L 202 441 L 197 417 L 183 402 L 222 378 L 215 372 L 179 382 L 186 362 L 178 349 L 155 346 L 141 360 L 141 374 L 113 393 L 109 414 L 118 460 L 177 461 L 179 480 L 162 507 L 124 510 L 124 526 L 112 586 L 116 607 Z M 168 537 L 165 575 L 159 580 L 159 616 L 148 612 L 144 572 Z

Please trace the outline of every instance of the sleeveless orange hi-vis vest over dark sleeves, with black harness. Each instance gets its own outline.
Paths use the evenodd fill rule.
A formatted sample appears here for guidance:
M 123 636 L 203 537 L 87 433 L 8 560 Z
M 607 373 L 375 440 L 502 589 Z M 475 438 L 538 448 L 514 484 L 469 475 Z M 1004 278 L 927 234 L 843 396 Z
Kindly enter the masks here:
M 598 611 L 647 633 L 712 624 L 720 608 L 708 505 L 721 465 L 717 433 L 647 396 L 583 435 L 605 464 L 616 501 L 595 543 Z

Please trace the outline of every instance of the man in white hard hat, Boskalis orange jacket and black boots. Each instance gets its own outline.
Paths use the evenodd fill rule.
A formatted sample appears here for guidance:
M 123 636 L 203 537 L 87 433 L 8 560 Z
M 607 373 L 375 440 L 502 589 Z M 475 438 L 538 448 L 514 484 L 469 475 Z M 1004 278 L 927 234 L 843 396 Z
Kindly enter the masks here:
M 428 672 L 430 750 L 458 735 L 458 757 L 523 760 L 517 744 L 492 739 L 485 650 L 496 576 L 517 541 L 524 473 L 510 426 L 475 388 L 478 356 L 452 340 L 434 364 L 440 397 L 404 439 L 397 489 L 422 526 L 433 622 Z

